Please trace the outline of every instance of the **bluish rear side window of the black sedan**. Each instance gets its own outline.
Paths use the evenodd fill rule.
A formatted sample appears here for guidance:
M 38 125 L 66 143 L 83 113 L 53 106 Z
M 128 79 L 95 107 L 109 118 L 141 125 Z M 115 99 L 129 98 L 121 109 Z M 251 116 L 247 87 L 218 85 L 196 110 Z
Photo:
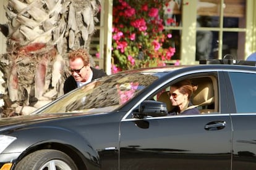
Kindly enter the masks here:
M 256 113 L 256 74 L 229 73 L 237 113 Z

